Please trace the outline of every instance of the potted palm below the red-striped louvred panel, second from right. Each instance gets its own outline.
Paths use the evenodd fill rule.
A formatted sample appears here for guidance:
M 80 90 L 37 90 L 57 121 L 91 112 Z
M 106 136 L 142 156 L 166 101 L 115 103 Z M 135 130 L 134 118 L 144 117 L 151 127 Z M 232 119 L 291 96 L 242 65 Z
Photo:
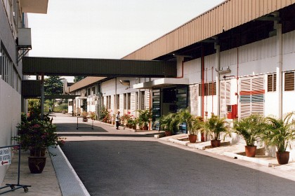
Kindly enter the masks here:
M 256 148 L 255 141 L 258 134 L 265 128 L 265 118 L 259 114 L 252 114 L 246 118 L 235 120 L 232 129 L 246 141 L 245 153 L 247 157 L 255 157 Z

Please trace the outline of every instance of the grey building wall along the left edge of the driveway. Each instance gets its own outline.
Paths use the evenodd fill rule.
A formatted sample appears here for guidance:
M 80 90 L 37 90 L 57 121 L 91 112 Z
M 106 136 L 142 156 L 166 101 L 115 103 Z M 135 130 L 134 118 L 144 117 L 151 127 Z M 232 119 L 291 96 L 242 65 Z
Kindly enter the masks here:
M 25 111 L 21 58 L 32 46 L 26 13 L 46 13 L 47 4 L 48 0 L 39 1 L 39 6 L 22 0 L 0 2 L 0 146 L 11 145 L 20 113 Z M 0 183 L 7 168 L 0 167 Z

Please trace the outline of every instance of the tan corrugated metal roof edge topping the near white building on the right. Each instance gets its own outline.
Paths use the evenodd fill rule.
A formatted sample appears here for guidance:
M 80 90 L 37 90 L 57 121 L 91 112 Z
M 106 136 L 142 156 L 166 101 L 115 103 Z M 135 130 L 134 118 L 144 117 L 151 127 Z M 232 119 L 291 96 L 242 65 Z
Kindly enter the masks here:
M 294 3 L 295 0 L 224 1 L 123 59 L 156 59 Z

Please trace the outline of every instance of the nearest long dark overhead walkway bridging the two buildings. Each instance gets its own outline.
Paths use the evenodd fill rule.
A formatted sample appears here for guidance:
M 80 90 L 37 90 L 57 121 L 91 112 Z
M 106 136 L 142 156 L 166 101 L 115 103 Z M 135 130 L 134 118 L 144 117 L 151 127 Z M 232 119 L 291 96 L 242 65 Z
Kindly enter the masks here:
M 23 57 L 24 75 L 176 77 L 176 61 Z

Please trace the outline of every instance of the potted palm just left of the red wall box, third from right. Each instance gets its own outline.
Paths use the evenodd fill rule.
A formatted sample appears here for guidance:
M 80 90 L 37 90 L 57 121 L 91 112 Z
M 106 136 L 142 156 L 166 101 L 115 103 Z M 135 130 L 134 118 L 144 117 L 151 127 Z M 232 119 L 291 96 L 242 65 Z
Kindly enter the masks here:
M 231 136 L 228 122 L 225 118 L 220 118 L 212 113 L 211 118 L 204 123 L 204 132 L 211 136 L 212 148 L 221 146 L 221 134 L 223 133 L 223 140 L 227 135 Z

